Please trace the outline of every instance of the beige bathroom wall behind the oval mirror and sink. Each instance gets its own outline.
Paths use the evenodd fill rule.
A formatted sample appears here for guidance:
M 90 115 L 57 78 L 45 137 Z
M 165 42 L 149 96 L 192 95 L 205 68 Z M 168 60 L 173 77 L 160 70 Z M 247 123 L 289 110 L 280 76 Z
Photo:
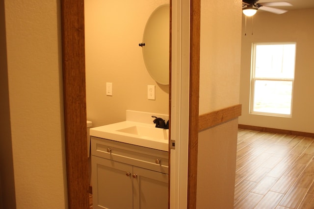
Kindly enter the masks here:
M 168 114 L 169 85 L 150 77 L 138 46 L 150 14 L 164 3 L 169 0 L 85 1 L 87 119 L 93 126 L 123 121 L 126 110 Z M 106 82 L 113 96 L 105 95 Z M 156 100 L 147 99 L 147 85 L 156 85 Z

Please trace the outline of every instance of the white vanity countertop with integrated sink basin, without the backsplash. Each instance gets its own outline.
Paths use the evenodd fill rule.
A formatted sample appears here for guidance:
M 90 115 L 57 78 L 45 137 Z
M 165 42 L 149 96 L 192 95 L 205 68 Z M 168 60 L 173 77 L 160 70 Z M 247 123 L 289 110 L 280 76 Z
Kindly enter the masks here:
M 123 121 L 91 128 L 90 136 L 168 151 L 169 130 L 155 124 Z

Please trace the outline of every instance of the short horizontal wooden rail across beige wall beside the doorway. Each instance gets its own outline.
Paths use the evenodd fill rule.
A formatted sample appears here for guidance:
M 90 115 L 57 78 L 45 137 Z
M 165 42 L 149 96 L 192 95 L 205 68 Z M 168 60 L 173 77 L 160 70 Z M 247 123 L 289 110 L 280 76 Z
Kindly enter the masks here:
M 241 116 L 241 107 L 242 105 L 238 104 L 221 110 L 200 115 L 198 118 L 199 121 L 198 130 L 202 131 L 204 129 L 219 125 L 221 123 L 235 119 L 238 116 Z

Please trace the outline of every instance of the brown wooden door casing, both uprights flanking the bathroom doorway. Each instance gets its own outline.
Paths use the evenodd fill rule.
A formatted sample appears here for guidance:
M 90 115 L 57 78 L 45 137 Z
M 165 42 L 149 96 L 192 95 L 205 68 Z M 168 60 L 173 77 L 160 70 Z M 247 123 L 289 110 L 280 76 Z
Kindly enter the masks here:
M 200 4 L 190 0 L 188 209 L 196 209 Z M 61 31 L 68 207 L 88 209 L 84 0 L 61 0 Z

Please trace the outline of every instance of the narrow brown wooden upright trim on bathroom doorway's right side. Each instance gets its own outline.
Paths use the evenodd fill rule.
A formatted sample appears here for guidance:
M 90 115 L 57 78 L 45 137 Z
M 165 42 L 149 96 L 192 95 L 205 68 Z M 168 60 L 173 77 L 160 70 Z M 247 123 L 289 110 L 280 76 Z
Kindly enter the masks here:
M 187 209 L 196 209 L 201 0 L 190 1 L 190 90 Z

